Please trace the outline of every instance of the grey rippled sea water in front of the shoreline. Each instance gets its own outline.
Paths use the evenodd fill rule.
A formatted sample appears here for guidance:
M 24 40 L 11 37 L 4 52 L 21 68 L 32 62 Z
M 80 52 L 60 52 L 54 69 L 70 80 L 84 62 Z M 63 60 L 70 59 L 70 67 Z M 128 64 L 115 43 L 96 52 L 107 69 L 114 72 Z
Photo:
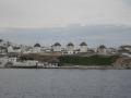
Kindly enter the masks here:
M 0 98 L 131 98 L 131 71 L 1 69 Z

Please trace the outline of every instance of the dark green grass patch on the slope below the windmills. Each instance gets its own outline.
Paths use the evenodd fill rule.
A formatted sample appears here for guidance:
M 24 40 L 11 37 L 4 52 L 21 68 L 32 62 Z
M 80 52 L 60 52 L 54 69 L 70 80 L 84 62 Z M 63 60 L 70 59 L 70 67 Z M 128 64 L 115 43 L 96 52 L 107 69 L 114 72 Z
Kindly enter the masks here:
M 119 57 L 118 56 L 92 56 L 92 57 L 79 57 L 79 56 L 63 56 L 59 57 L 61 64 L 73 65 L 111 65 Z

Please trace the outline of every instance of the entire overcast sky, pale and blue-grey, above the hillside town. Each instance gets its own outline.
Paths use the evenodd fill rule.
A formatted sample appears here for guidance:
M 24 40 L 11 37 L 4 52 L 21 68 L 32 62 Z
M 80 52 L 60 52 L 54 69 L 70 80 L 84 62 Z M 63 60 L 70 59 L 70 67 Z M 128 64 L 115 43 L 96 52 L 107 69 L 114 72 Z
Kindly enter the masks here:
M 100 28 L 98 28 L 99 25 Z M 115 26 L 117 30 L 112 27 L 105 29 L 105 25 Z M 81 30 L 79 29 L 75 34 L 78 26 Z M 53 27 L 57 27 L 57 32 L 58 29 L 60 33 L 64 32 L 63 34 L 73 41 L 76 41 L 76 38 L 97 41 L 99 37 L 99 41 L 107 39 L 105 44 L 109 44 L 107 35 L 111 33 L 112 36 L 115 34 L 119 37 L 126 35 L 119 38 L 119 42 L 131 44 L 131 40 L 127 38 L 127 36 L 131 37 L 131 0 L 0 0 L 1 38 L 28 44 L 59 41 L 56 36 L 61 38 L 62 35 L 53 32 Z M 95 30 L 97 28 L 98 30 Z M 69 29 L 68 33 L 66 29 Z M 104 29 L 105 32 L 98 35 Z M 31 32 L 35 33 L 31 35 Z M 51 37 L 50 40 L 47 33 Z M 74 36 L 71 37 L 72 34 L 75 35 L 75 40 Z M 45 36 L 45 40 L 43 38 L 38 40 L 36 35 Z M 85 38 L 85 35 L 88 38 Z M 24 36 L 29 36 L 29 39 Z M 60 41 L 63 41 L 62 39 Z

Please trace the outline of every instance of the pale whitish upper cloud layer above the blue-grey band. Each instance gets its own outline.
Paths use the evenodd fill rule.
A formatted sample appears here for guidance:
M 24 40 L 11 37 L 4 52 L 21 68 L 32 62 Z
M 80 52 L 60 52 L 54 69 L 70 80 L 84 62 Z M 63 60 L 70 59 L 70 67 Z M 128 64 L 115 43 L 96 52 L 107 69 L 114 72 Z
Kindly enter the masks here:
M 131 26 L 129 0 L 0 0 L 0 27 Z

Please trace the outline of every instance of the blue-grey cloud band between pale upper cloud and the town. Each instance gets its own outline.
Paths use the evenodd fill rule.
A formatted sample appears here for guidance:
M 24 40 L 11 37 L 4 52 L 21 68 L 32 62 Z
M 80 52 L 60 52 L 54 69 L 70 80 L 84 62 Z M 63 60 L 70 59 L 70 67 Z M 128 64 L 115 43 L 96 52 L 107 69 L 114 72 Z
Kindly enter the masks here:
M 10 32 L 9 32 L 10 30 Z M 52 28 L 9 28 L 0 32 L 0 38 L 16 44 L 50 46 L 56 41 L 79 45 L 86 41 L 90 47 L 131 45 L 131 27 L 115 25 L 68 26 Z

